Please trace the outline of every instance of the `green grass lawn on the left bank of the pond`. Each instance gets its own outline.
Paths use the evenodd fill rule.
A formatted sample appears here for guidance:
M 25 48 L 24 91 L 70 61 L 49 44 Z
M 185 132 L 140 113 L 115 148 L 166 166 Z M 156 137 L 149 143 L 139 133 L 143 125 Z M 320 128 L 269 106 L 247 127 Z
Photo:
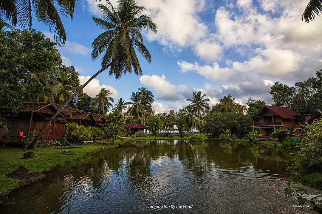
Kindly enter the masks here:
M 34 172 L 44 172 L 53 167 L 77 160 L 88 153 L 99 151 L 100 147 L 102 147 L 102 145 L 85 144 L 83 148 L 74 149 L 69 149 L 67 147 L 65 149 L 54 149 L 53 147 L 37 148 L 32 150 L 35 157 L 28 159 L 23 159 L 23 154 L 29 150 L 11 148 L 0 149 L 0 191 L 9 193 L 13 189 L 25 184 L 24 181 L 6 176 L 6 174 L 12 172 L 19 166 L 24 166 Z M 109 145 L 107 147 L 115 147 L 115 145 Z M 65 150 L 72 150 L 74 153 L 72 155 L 62 154 Z M 23 164 L 21 164 L 22 162 Z

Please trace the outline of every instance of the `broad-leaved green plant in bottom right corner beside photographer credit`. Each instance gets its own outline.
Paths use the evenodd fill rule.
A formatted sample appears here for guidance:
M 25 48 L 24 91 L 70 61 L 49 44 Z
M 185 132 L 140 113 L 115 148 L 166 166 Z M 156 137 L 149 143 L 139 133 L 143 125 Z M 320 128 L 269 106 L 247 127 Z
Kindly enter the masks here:
M 289 179 L 287 182 L 287 188 L 284 189 L 284 195 L 286 196 L 285 199 L 289 197 L 295 197 L 297 198 L 298 205 L 300 205 L 301 208 L 303 208 L 303 205 L 305 202 L 311 203 L 313 205 L 312 210 L 317 211 L 318 213 L 322 213 L 322 209 L 320 206 L 316 204 L 314 201 L 316 198 L 322 197 L 322 195 L 315 196 L 313 198 L 306 198 L 304 194 L 308 194 L 308 190 L 300 187 L 300 186 L 293 186 L 291 187 L 292 180 Z M 285 200 L 284 199 L 284 200 Z

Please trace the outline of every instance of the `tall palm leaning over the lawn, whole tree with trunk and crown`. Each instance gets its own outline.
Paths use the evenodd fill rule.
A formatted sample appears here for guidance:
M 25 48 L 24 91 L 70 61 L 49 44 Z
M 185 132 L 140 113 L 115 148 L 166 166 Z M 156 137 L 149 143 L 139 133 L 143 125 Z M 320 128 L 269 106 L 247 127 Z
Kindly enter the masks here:
M 103 19 L 93 17 L 95 23 L 103 30 L 106 30 L 92 43 L 92 59 L 95 60 L 99 58 L 100 55 L 104 55 L 101 60 L 102 68 L 66 100 L 43 126 L 32 143 L 28 146 L 28 149 L 34 149 L 36 142 L 40 139 L 54 118 L 102 71 L 110 68 L 109 75 L 114 75 L 116 79 L 119 79 L 123 74 L 131 73 L 132 71 L 136 75 L 142 75 L 135 48 L 145 59 L 147 59 L 148 63 L 151 63 L 151 55 L 142 43 L 143 38 L 141 30 L 147 28 L 156 33 L 156 24 L 152 21 L 150 16 L 145 14 L 140 15 L 146 8 L 137 5 L 134 0 L 118 0 L 117 8 L 114 8 L 109 0 L 106 1 L 106 6 L 102 4 L 98 5 Z

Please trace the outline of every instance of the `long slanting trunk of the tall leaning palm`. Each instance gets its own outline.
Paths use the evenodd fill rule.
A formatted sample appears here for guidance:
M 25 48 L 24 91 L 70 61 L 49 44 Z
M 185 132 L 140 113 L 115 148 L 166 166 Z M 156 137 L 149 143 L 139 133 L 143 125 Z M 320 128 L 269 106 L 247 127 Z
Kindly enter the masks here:
M 68 98 L 66 100 L 66 102 L 55 112 L 55 114 L 53 114 L 53 116 L 48 120 L 48 122 L 44 125 L 44 127 L 40 130 L 40 132 L 37 134 L 37 136 L 33 139 L 33 141 L 29 144 L 29 146 L 27 147 L 27 149 L 34 149 L 36 146 L 37 141 L 39 141 L 39 139 L 41 138 L 42 134 L 45 132 L 45 130 L 47 129 L 47 127 L 49 126 L 49 124 L 52 123 L 52 121 L 56 118 L 56 116 L 62 111 L 62 109 L 64 107 L 67 106 L 67 104 L 78 94 L 80 93 L 83 88 L 90 82 L 92 81 L 97 75 L 99 75 L 102 71 L 106 70 L 109 68 L 109 66 L 111 65 L 108 64 L 106 66 L 104 66 L 101 70 L 99 70 L 97 73 L 95 73 L 88 81 L 86 81 L 81 88 L 79 88 L 73 95 L 71 95 L 70 98 Z

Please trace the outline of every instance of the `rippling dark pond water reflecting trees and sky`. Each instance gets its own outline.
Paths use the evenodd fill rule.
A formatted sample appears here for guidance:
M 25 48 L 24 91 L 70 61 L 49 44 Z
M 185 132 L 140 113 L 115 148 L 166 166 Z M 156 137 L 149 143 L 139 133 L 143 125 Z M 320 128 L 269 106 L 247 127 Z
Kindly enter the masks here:
M 131 142 L 55 167 L 9 194 L 0 213 L 310 213 L 283 200 L 288 153 L 228 142 Z

